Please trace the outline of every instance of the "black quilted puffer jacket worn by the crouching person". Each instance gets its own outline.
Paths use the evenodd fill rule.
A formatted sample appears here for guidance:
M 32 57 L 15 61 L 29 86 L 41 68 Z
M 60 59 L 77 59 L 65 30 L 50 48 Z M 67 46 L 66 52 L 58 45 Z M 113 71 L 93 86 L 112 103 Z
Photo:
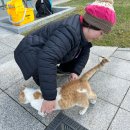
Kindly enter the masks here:
M 14 57 L 25 80 L 36 71 L 39 74 L 43 98 L 56 98 L 56 74 L 59 63 L 65 63 L 77 57 L 73 72 L 80 74 L 90 52 L 91 43 L 87 42 L 82 32 L 80 15 L 73 15 L 64 20 L 47 24 L 26 36 L 14 51 Z

